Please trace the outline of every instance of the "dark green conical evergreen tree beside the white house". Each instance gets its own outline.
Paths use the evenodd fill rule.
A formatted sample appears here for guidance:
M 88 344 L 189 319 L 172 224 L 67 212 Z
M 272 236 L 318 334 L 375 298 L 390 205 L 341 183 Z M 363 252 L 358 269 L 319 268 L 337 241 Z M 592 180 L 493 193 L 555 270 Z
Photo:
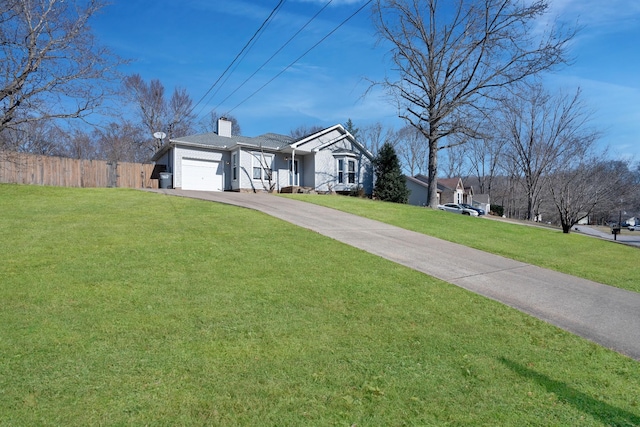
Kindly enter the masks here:
M 376 185 L 373 194 L 379 200 L 394 203 L 407 203 L 409 189 L 400 168 L 400 160 L 396 150 L 385 142 L 373 159 Z

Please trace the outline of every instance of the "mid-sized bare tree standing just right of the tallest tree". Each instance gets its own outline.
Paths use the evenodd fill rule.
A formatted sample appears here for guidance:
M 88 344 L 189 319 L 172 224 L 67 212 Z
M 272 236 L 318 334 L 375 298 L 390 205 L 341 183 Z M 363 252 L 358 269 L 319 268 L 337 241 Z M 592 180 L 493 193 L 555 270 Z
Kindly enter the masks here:
M 583 158 L 598 137 L 591 118 L 575 95 L 549 95 L 540 85 L 530 86 L 502 103 L 500 128 L 504 155 L 521 178 L 526 195 L 525 219 L 536 218 L 545 180 L 574 158 Z

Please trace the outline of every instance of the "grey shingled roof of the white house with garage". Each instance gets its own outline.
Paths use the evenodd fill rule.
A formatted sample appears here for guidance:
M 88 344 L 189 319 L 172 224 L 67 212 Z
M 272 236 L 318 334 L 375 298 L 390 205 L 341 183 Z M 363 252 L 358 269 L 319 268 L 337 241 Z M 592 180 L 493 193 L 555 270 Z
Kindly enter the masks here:
M 326 136 L 333 131 L 338 131 L 340 136 L 326 140 Z M 325 139 L 323 140 L 323 137 Z M 256 137 L 248 136 L 220 136 L 215 132 L 201 133 L 189 135 L 180 138 L 172 138 L 166 142 L 151 158 L 158 160 L 171 147 L 176 145 L 186 145 L 190 147 L 215 148 L 220 150 L 232 150 L 236 146 L 255 147 L 273 151 L 281 151 L 290 153 L 299 151 L 301 153 L 311 153 L 323 148 L 329 147 L 338 141 L 349 139 L 354 145 L 360 149 L 370 160 L 373 155 L 362 144 L 360 144 L 344 127 L 340 124 L 330 126 L 312 134 L 295 139 L 291 136 L 280 135 L 277 133 L 265 133 Z

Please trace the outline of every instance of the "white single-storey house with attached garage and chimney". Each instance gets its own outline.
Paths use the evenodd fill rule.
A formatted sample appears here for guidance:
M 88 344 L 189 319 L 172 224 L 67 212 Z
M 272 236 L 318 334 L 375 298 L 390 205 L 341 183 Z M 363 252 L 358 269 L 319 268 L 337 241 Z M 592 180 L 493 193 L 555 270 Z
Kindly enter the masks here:
M 342 125 L 294 139 L 267 133 L 231 135 L 231 122 L 217 133 L 171 139 L 153 156 L 172 173 L 173 187 L 203 191 L 318 192 L 373 190 L 372 154 Z

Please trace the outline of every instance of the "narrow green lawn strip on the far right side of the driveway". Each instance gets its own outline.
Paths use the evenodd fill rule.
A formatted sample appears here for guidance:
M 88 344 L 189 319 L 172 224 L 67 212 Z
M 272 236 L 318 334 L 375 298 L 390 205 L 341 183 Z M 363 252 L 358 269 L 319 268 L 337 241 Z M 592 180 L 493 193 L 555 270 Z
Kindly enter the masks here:
M 354 197 L 284 195 L 465 246 L 640 292 L 640 249 L 578 233 Z

